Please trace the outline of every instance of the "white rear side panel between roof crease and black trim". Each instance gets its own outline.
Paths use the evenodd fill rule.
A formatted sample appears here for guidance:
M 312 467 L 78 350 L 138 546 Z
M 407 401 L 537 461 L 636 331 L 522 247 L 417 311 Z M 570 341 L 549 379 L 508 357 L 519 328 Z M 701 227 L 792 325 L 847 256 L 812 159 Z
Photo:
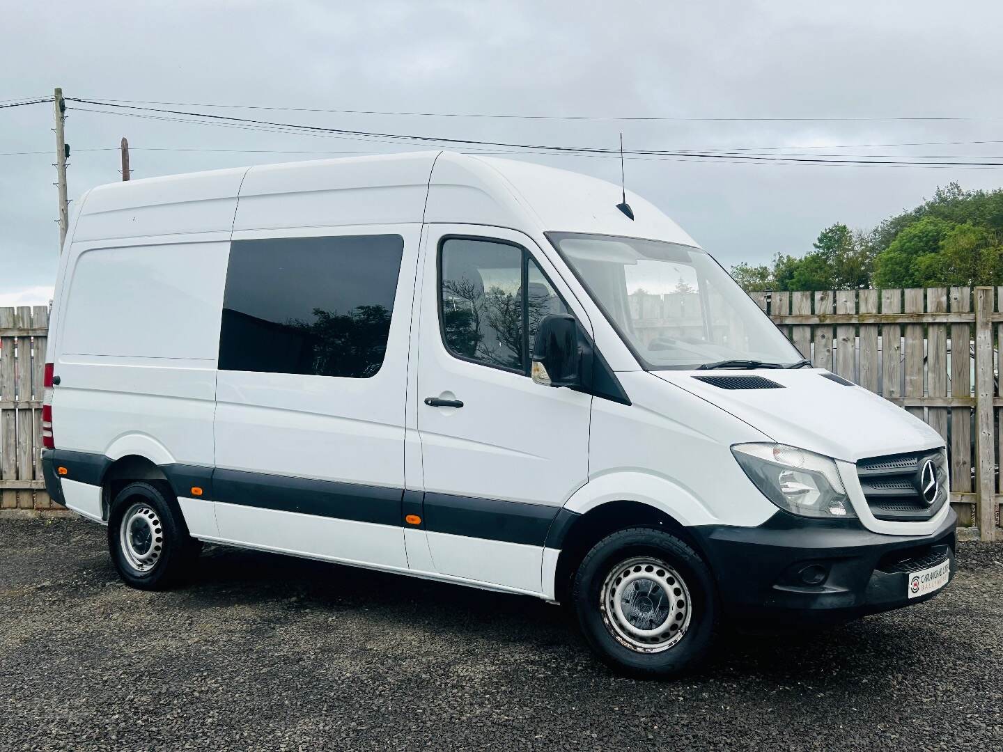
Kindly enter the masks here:
M 213 464 L 228 236 L 73 244 L 53 356 L 57 449 Z

